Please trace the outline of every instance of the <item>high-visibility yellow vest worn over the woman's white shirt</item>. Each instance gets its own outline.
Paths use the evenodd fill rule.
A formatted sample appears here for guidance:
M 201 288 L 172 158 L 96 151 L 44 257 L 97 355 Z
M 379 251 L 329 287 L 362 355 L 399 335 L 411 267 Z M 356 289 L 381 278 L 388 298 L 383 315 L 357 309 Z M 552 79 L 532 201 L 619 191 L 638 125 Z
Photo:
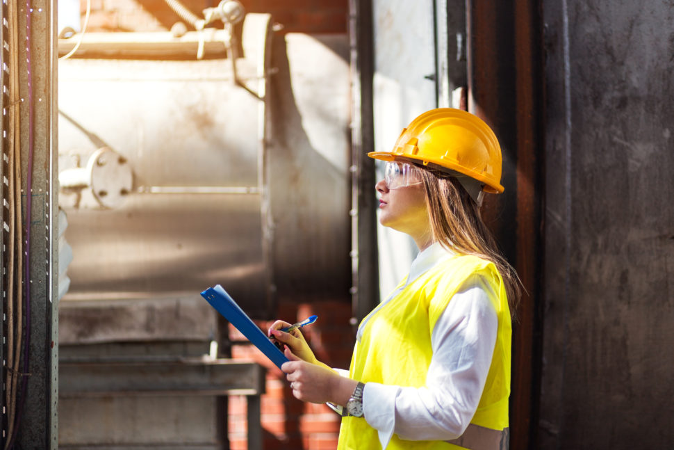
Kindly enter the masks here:
M 464 433 L 463 441 L 461 438 L 452 441 L 454 444 L 402 440 L 394 434 L 386 450 L 507 448 L 500 447 L 503 444 L 498 441 L 503 442 L 504 437 L 507 441 L 511 321 L 503 280 L 491 262 L 474 256 L 454 255 L 420 275 L 400 294 L 370 313 L 362 337 L 356 342 L 349 376 L 363 383 L 424 386 L 433 355 L 433 328 L 454 294 L 471 275 L 482 275 L 493 286 L 493 293 L 487 294 L 498 316 L 498 334 L 482 397 L 470 421 L 470 433 Z M 494 442 L 494 437 L 497 444 L 485 447 L 484 439 Z M 471 440 L 473 444 L 467 442 Z M 455 445 L 457 443 L 462 447 Z M 363 417 L 343 417 L 338 449 L 380 448 L 377 431 Z

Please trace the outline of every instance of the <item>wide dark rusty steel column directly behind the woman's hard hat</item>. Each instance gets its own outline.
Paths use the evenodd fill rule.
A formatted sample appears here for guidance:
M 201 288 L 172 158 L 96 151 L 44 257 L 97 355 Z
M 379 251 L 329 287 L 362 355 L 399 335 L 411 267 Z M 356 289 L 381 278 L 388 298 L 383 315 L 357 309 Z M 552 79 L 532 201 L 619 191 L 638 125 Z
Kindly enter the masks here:
M 483 217 L 525 288 L 513 326 L 510 424 L 511 448 L 527 449 L 539 367 L 540 23 L 534 1 L 467 6 L 468 110 L 493 127 L 503 156 L 505 191 L 488 196 Z

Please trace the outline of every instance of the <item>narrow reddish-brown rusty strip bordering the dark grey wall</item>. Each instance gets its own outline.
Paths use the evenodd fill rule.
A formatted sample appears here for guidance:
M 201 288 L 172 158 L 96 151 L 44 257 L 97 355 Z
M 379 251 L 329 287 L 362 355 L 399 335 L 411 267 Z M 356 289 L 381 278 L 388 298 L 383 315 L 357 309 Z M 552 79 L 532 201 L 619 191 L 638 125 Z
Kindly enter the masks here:
M 544 156 L 542 19 L 536 0 L 514 3 L 517 127 L 517 245 L 515 264 L 525 290 L 513 328 L 511 448 L 527 449 L 538 412 L 541 366 L 541 236 Z

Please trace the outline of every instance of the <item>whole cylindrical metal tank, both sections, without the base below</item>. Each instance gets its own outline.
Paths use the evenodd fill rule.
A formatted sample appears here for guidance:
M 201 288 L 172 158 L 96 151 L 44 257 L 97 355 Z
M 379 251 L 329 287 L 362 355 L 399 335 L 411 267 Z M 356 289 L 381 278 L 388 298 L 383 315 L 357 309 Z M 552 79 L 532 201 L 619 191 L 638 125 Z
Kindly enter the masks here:
M 224 49 L 213 34 L 202 60 L 151 44 L 162 61 L 59 62 L 64 300 L 191 298 L 216 283 L 259 317 L 274 298 L 350 300 L 348 41 L 285 35 L 271 67 L 270 28 L 246 15 L 233 60 L 209 58 Z M 85 56 L 143 51 L 106 39 L 83 42 Z M 181 39 L 165 45 L 196 53 L 198 37 Z

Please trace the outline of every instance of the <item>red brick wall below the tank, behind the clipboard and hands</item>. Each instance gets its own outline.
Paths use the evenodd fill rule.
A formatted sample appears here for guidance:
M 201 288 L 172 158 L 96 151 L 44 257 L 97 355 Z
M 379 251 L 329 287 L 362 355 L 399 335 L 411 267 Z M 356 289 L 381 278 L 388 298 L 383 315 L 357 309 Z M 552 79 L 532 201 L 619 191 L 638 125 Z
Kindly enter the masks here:
M 335 300 L 299 304 L 281 302 L 278 316 L 293 322 L 313 314 L 318 315 L 318 320 L 305 327 L 303 332 L 316 357 L 333 367 L 347 369 L 355 340 L 349 326 L 350 303 Z M 265 331 L 270 324 L 258 322 L 258 326 Z M 245 337 L 231 328 L 230 339 L 240 342 Z M 331 409 L 326 405 L 303 403 L 295 399 L 283 372 L 253 346 L 233 345 L 232 357 L 254 360 L 268 369 L 261 417 L 265 449 L 336 449 L 340 419 Z M 230 398 L 229 438 L 232 450 L 247 449 L 245 408 L 245 398 Z

